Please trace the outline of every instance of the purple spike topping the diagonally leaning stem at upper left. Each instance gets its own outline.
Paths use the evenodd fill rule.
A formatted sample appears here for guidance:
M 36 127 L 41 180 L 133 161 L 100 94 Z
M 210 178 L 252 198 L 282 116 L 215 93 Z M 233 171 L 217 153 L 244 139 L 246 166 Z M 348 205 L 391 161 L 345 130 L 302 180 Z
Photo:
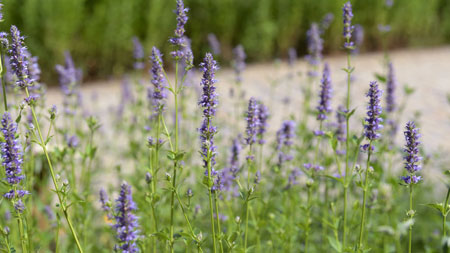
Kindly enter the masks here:
M 11 26 L 11 47 L 9 49 L 10 65 L 17 76 L 16 85 L 25 88 L 33 84 L 28 70 L 28 51 L 24 44 L 24 37 L 20 35 L 16 26 Z

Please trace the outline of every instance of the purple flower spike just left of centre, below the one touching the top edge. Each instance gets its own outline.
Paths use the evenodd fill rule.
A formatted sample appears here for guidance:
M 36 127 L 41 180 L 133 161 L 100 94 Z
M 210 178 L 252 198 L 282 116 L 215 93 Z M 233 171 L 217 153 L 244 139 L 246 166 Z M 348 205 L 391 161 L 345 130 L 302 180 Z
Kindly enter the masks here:
M 162 55 L 156 47 L 152 48 L 151 62 L 151 75 L 153 84 L 151 100 L 153 102 L 155 112 L 159 112 L 162 109 L 161 107 L 164 105 L 162 100 L 166 97 L 166 79 L 164 77 Z

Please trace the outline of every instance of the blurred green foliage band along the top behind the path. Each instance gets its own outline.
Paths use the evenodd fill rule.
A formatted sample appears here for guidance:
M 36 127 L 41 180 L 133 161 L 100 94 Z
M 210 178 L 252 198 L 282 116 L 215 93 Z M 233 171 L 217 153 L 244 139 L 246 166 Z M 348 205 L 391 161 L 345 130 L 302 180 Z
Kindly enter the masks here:
M 342 44 L 341 0 L 186 0 L 190 8 L 187 35 L 197 60 L 209 50 L 207 34 L 222 44 L 221 63 L 242 43 L 250 61 L 285 57 L 289 47 L 305 53 L 306 30 L 331 12 L 324 34 L 325 51 Z M 365 29 L 363 51 L 392 47 L 437 45 L 450 41 L 450 1 L 354 0 L 354 23 Z M 70 50 L 89 78 L 118 75 L 132 67 L 131 37 L 150 51 L 153 45 L 168 55 L 168 38 L 175 27 L 175 0 L 4 0 L 2 30 L 16 24 L 39 56 L 44 78 L 52 83 L 54 65 Z M 392 31 L 380 36 L 378 24 Z M 382 43 L 385 42 L 385 43 Z

